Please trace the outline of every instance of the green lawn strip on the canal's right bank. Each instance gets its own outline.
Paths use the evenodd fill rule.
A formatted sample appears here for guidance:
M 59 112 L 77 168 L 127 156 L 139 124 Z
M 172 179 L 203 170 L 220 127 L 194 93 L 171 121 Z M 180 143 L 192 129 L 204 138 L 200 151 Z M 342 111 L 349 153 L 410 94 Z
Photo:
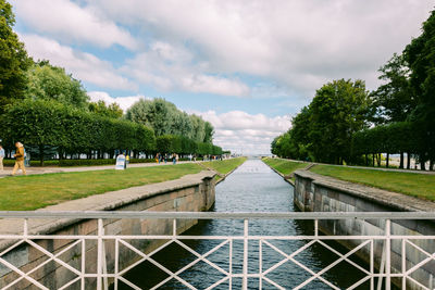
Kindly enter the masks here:
M 435 175 L 315 165 L 313 173 L 435 201 Z

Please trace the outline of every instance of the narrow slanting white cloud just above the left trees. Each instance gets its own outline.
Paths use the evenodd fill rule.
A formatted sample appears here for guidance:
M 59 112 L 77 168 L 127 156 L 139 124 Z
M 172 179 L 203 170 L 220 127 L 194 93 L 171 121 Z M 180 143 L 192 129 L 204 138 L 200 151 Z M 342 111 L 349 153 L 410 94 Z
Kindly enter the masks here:
M 65 67 L 75 78 L 104 88 L 135 89 L 137 86 L 123 77 L 112 64 L 94 54 L 62 46 L 58 41 L 37 36 L 21 34 L 27 52 L 36 60 L 49 60 L 53 65 Z

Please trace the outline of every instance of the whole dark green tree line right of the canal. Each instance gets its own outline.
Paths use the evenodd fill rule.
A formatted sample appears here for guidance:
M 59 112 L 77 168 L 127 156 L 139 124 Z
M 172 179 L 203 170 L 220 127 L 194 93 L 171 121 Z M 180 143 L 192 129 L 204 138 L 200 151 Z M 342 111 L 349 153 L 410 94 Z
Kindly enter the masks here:
M 430 169 L 434 169 L 434 43 L 432 11 L 422 25 L 422 34 L 378 70 L 382 85 L 377 89 L 368 91 L 363 80 L 325 84 L 293 118 L 291 128 L 272 141 L 272 153 L 306 161 L 378 166 L 381 153 L 400 154 L 401 168 L 410 167 L 412 155 L 422 169 L 427 161 Z

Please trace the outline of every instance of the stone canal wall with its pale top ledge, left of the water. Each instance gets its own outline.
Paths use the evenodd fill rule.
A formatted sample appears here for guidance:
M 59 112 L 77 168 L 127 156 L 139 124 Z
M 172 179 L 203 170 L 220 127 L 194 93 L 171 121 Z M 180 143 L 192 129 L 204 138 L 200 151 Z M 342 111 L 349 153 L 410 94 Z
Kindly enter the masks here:
M 65 202 L 49 206 L 41 211 L 177 211 L 199 212 L 209 210 L 214 203 L 215 173 L 201 172 L 196 175 L 184 176 L 176 180 L 135 187 L 104 194 L 91 196 L 85 199 Z M 104 235 L 171 235 L 173 232 L 172 219 L 104 219 Z M 183 232 L 197 223 L 197 220 L 177 220 L 177 232 Z M 97 235 L 97 220 L 80 219 L 30 219 L 29 234 L 35 235 Z M 1 219 L 0 228 L 3 235 L 18 234 L 23 228 L 23 219 Z M 72 240 L 35 240 L 38 245 L 50 253 L 58 254 Z M 164 241 L 128 240 L 133 247 L 148 253 Z M 8 249 L 13 241 L 2 241 L 0 252 Z M 85 263 L 82 264 L 82 242 L 59 256 L 60 260 L 80 270 L 84 266 L 86 273 L 97 273 L 97 241 L 86 240 Z M 115 243 L 113 240 L 104 242 L 105 268 L 113 273 L 115 264 Z M 123 269 L 139 259 L 139 255 L 126 247 L 119 248 L 119 269 Z M 32 270 L 48 260 L 40 250 L 23 243 L 8 254 L 1 256 L 24 273 Z M 32 273 L 29 277 L 41 282 L 48 289 L 59 289 L 77 275 L 61 266 L 60 263 L 48 262 L 40 269 Z M 17 275 L 10 268 L 0 264 L 0 288 L 15 280 Z M 110 282 L 110 280 L 109 280 Z M 30 286 L 26 279 L 10 289 L 39 289 Z M 67 289 L 80 289 L 79 281 Z M 96 289 L 96 279 L 87 278 L 85 289 Z

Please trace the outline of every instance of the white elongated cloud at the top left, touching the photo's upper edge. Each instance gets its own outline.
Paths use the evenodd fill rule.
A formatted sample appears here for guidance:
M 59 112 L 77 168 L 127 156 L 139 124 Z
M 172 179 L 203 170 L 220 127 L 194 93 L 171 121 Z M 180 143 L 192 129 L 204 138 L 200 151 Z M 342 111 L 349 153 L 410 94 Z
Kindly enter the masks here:
M 102 48 L 119 45 L 134 50 L 136 39 L 98 11 L 79 7 L 69 0 L 20 0 L 14 8 L 27 25 L 70 43 L 91 43 Z

